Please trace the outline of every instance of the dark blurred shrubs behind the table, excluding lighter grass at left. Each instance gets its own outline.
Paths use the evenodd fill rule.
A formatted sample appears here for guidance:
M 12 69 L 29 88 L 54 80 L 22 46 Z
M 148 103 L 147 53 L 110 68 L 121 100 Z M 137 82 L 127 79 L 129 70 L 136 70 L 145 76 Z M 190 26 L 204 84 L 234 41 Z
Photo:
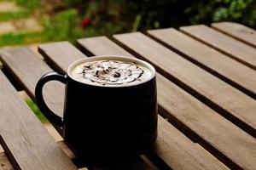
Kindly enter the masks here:
M 85 31 L 111 35 L 124 31 L 234 21 L 256 28 L 255 0 L 64 0 L 91 20 Z M 95 31 L 90 31 L 90 27 Z M 93 36 L 94 36 L 93 35 Z

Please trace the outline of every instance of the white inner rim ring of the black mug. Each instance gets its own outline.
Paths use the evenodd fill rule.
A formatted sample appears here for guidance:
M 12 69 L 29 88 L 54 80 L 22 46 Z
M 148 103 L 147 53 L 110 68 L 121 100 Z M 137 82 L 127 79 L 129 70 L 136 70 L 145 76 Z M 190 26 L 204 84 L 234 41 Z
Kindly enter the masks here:
M 125 85 L 121 85 L 121 86 L 114 86 L 114 85 L 98 85 L 98 84 L 93 84 L 93 83 L 88 83 L 88 82 L 81 82 L 75 78 L 73 78 L 71 76 L 71 71 L 73 70 L 73 68 L 79 64 L 82 64 L 83 62 L 89 62 L 89 61 L 93 61 L 93 60 L 101 60 L 101 59 L 124 59 L 124 60 L 130 60 L 130 61 L 136 61 L 138 64 L 140 65 L 143 65 L 145 67 L 147 67 L 150 71 L 152 71 L 152 76 L 143 80 L 142 82 L 138 82 L 138 83 L 135 83 L 135 84 L 125 84 Z M 125 56 L 125 55 L 95 55 L 95 56 L 91 56 L 91 57 L 86 57 L 86 58 L 83 58 L 83 59 L 78 59 L 78 60 L 75 60 L 73 61 L 72 64 L 68 65 L 67 67 L 67 76 L 72 78 L 74 81 L 76 82 L 80 82 L 80 83 L 83 83 L 83 84 L 86 84 L 86 85 L 90 85 L 90 86 L 97 86 L 97 87 L 102 87 L 102 88 L 125 88 L 125 87 L 132 87 L 132 86 L 137 86 L 137 85 L 140 85 L 140 84 L 143 84 L 145 82 L 149 82 L 150 80 L 152 80 L 154 77 L 155 77 L 155 69 L 154 69 L 154 66 L 149 64 L 147 61 L 144 61 L 142 59 L 137 59 L 135 57 L 129 57 L 129 56 Z

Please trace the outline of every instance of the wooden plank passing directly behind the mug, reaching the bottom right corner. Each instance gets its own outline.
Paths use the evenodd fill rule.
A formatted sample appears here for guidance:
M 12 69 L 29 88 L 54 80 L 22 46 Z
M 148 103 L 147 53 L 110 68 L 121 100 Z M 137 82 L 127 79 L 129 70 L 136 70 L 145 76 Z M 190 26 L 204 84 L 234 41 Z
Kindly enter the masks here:
M 79 43 L 91 54 L 132 56 L 106 37 L 84 38 L 80 39 Z M 117 50 L 114 51 L 114 49 Z M 170 120 L 176 119 L 176 124 L 184 126 L 181 127 L 183 131 L 192 132 L 188 135 L 199 136 L 196 140 L 199 140 L 202 145 L 205 147 L 212 145 L 215 150 L 223 153 L 241 167 L 249 169 L 250 165 L 251 167 L 256 165 L 256 152 L 253 150 L 256 148 L 255 139 L 182 89 L 177 88 L 165 77 L 157 76 L 158 101 L 162 108 L 160 111 L 163 111 L 166 117 Z M 248 160 L 246 157 L 253 157 L 253 159 Z

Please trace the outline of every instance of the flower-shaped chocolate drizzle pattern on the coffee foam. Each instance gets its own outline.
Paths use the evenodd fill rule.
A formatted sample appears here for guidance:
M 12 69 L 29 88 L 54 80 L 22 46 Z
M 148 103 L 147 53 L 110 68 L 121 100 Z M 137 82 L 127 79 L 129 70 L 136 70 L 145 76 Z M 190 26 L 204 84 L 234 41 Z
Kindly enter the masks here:
M 79 74 L 90 82 L 102 85 L 122 85 L 125 83 L 141 81 L 143 69 L 135 63 L 126 63 L 115 60 L 101 60 L 90 65 L 84 65 Z

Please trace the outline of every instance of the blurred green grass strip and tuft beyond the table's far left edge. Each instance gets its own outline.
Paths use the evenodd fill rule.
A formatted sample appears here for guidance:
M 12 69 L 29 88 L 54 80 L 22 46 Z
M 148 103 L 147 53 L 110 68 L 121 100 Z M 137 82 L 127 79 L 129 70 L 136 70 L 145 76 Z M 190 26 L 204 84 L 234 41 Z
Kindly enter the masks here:
M 62 11 L 52 19 L 41 20 L 44 31 L 10 32 L 0 35 L 0 47 L 63 40 L 74 43 L 77 38 L 84 37 L 84 32 L 77 26 L 78 18 L 77 11 L 74 9 Z

